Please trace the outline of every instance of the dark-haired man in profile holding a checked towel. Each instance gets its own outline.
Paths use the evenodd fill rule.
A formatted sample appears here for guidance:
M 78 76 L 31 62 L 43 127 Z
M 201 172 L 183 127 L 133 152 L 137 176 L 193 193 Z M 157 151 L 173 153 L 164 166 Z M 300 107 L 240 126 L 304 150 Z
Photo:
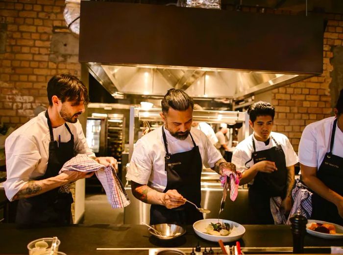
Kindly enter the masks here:
M 117 167 L 113 157 L 95 157 L 77 118 L 89 102 L 87 88 L 75 76 L 58 74 L 47 86 L 49 108 L 15 130 L 5 142 L 6 196 L 19 200 L 16 223 L 65 225 L 71 220 L 71 193 L 58 188 L 94 173 L 66 171 L 63 164 L 77 153 Z

